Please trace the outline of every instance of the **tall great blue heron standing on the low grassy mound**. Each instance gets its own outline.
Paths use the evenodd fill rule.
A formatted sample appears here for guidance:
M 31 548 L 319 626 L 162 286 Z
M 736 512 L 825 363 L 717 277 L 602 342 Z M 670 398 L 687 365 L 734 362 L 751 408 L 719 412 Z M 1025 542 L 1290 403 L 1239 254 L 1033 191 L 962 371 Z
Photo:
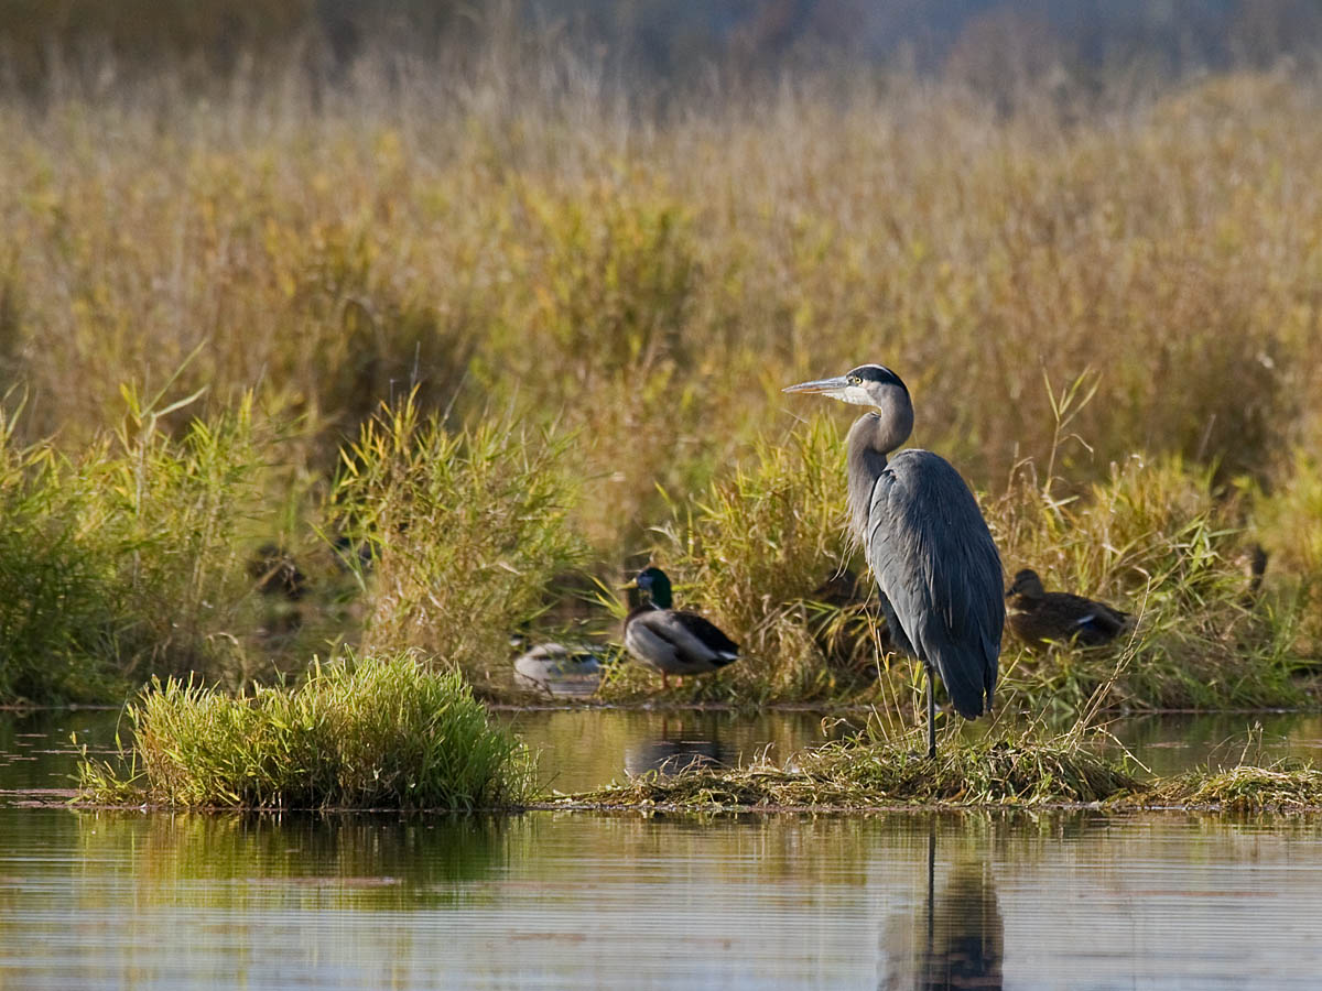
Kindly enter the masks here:
M 992 710 L 1005 626 L 992 532 L 945 459 L 910 449 L 887 461 L 914 429 L 914 403 L 894 371 L 859 365 L 785 391 L 876 411 L 858 418 L 845 441 L 850 526 L 876 579 L 892 642 L 927 669 L 927 752 L 935 757 L 933 669 L 961 716 Z

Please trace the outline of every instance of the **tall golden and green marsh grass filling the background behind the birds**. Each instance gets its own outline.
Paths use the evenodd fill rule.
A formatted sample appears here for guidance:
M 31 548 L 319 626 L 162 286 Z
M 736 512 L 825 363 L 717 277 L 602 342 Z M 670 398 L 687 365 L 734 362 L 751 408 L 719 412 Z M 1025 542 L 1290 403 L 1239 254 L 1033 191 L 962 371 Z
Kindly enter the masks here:
M 4 698 L 344 642 L 496 690 L 648 558 L 747 647 L 691 692 L 858 691 L 805 606 L 849 412 L 779 388 L 861 361 L 1011 572 L 1150 609 L 1114 704 L 1310 686 L 1315 5 L 11 8 Z

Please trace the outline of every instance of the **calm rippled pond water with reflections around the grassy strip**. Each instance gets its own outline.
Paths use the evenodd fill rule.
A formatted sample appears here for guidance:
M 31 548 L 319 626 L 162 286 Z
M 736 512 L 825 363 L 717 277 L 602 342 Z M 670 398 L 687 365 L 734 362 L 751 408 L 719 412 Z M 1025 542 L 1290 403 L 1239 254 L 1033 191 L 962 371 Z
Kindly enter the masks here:
M 564 790 L 820 719 L 522 714 Z M 1157 770 L 1251 717 L 1117 733 Z M 1263 719 L 1317 754 L 1322 720 Z M 202 817 L 22 807 L 67 735 L 0 715 L 0 988 L 1315 988 L 1322 819 L 1163 814 Z M 1259 744 L 1253 743 L 1256 748 Z

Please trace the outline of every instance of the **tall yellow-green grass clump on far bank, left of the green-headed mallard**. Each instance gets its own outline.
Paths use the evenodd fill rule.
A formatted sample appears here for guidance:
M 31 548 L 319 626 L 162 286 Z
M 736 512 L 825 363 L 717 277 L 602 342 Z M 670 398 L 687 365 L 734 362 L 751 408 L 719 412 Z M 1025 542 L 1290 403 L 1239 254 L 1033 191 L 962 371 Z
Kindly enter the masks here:
M 362 649 L 505 679 L 510 632 L 583 560 L 568 444 L 512 418 L 452 432 L 410 399 L 364 424 L 330 495 L 332 526 L 370 550 Z

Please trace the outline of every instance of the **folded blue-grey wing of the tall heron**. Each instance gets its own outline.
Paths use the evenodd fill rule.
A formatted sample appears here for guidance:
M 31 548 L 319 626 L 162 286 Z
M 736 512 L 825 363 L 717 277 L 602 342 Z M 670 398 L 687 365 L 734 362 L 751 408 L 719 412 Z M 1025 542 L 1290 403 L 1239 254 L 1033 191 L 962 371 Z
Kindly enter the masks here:
M 929 451 L 891 459 L 873 489 L 866 552 L 887 620 L 936 667 L 960 715 L 982 715 L 1005 597 L 1001 556 L 960 473 Z

